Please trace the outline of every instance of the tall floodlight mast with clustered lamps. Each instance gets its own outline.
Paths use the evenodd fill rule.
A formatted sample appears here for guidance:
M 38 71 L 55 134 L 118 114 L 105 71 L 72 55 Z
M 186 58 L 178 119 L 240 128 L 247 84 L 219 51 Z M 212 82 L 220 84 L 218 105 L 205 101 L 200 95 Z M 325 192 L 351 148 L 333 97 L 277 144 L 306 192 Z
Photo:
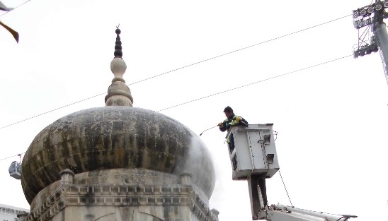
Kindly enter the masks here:
M 385 80 L 388 83 L 388 34 L 384 18 L 388 18 L 388 0 L 379 1 L 353 10 L 353 25 L 358 30 L 358 44 L 353 48 L 354 58 L 380 52 Z M 364 29 L 363 32 L 360 30 Z M 361 33 L 361 35 L 360 35 Z M 365 37 L 370 36 L 365 40 Z

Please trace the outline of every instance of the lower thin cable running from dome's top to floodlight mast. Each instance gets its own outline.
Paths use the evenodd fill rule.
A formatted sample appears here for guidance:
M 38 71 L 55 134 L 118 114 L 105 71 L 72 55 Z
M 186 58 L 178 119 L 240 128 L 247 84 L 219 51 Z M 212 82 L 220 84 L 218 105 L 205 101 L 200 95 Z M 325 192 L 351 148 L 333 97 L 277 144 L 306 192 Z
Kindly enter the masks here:
M 205 98 L 207 98 L 207 97 L 212 97 L 212 96 L 215 96 L 215 95 L 220 95 L 220 94 L 222 94 L 222 93 L 224 93 L 224 92 L 229 92 L 229 91 L 232 91 L 232 90 L 237 90 L 237 89 L 240 89 L 240 88 L 245 88 L 245 87 L 247 87 L 247 86 L 254 85 L 254 84 L 256 84 L 256 83 L 261 83 L 261 82 L 266 81 L 266 80 L 272 80 L 272 79 L 274 79 L 274 78 L 280 78 L 280 77 L 289 75 L 290 73 L 296 73 L 296 72 L 299 72 L 299 71 L 307 70 L 307 69 L 309 69 L 309 68 L 314 68 L 314 67 L 316 67 L 316 66 L 321 66 L 321 65 L 324 65 L 324 64 L 329 64 L 329 63 L 331 63 L 331 62 L 333 62 L 333 61 L 338 61 L 338 60 L 341 60 L 341 59 L 345 59 L 345 58 L 347 58 L 347 57 L 349 57 L 349 56 L 353 56 L 353 54 L 350 54 L 350 55 L 347 55 L 347 56 L 342 56 L 342 57 L 340 57 L 340 58 L 338 58 L 338 59 L 333 59 L 333 60 L 330 60 L 330 61 L 325 61 L 325 62 L 322 62 L 322 63 L 319 63 L 319 64 L 314 64 L 313 66 L 308 66 L 308 67 L 306 67 L 306 68 L 301 68 L 301 69 L 298 69 L 298 70 L 296 70 L 296 71 L 291 71 L 291 72 L 283 73 L 283 74 L 280 74 L 280 75 L 278 75 L 278 76 L 273 76 L 273 77 L 266 78 L 266 79 L 263 79 L 263 80 L 258 80 L 258 81 L 256 81 L 256 82 L 249 83 L 249 84 L 246 84 L 246 85 L 241 85 L 241 86 L 239 86 L 239 87 L 232 88 L 232 89 L 229 89 L 229 90 L 224 90 L 224 91 L 221 91 L 221 92 L 216 92 L 215 94 L 212 94 L 212 95 L 207 95 L 207 96 L 205 96 L 205 97 L 200 97 L 200 98 L 197 98 L 197 99 L 194 99 L 194 100 L 190 100 L 190 101 L 188 101 L 188 102 L 183 102 L 183 103 L 181 103 L 181 104 L 176 104 L 176 105 L 173 105 L 173 106 L 171 106 L 171 107 L 166 107 L 166 108 L 164 108 L 164 109 L 160 109 L 160 110 L 157 111 L 157 112 L 161 112 L 161 111 L 164 111 L 164 110 L 166 110 L 166 109 L 171 109 L 171 108 L 173 108 L 173 107 L 181 106 L 181 105 L 183 105 L 183 104 L 188 104 L 188 103 L 191 103 L 191 102 L 195 102 L 195 101 L 198 101 L 198 100 L 202 100 L 202 99 L 205 99 Z

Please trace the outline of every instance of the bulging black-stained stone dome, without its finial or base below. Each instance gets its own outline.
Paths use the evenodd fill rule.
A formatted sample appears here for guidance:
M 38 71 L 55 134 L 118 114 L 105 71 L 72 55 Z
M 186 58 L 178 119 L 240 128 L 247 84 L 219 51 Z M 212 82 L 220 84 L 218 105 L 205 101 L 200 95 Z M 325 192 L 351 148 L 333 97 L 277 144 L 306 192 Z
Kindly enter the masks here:
M 116 168 L 189 172 L 208 198 L 215 186 L 215 169 L 200 138 L 175 119 L 137 107 L 85 109 L 40 131 L 23 157 L 27 201 L 67 168 L 75 174 Z

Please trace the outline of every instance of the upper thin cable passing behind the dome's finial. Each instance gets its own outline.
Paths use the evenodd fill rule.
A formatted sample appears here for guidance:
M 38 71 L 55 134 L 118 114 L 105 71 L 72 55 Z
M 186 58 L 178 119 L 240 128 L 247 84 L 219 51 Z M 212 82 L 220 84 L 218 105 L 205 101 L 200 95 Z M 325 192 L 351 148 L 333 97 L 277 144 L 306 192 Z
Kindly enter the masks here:
M 31 0 L 29 0 L 29 1 L 31 1 Z M 27 3 L 27 2 L 28 2 L 28 1 L 26 1 L 25 3 Z M 25 4 L 25 3 L 24 3 L 24 4 Z M 21 4 L 21 5 L 23 5 L 23 4 Z M 324 23 L 320 23 L 320 24 L 318 24 L 318 25 L 310 26 L 309 28 L 304 28 L 304 29 L 302 29 L 302 30 L 297 30 L 297 31 L 295 31 L 295 32 L 288 33 L 288 34 L 286 34 L 286 35 L 281 35 L 281 36 L 279 36 L 279 37 L 274 37 L 274 38 L 272 38 L 272 39 L 270 39 L 270 40 L 266 40 L 266 41 L 263 41 L 263 42 L 259 42 L 259 43 L 257 43 L 257 44 L 252 44 L 252 45 L 250 45 L 250 46 L 248 46 L 248 47 L 243 47 L 243 48 L 241 48 L 241 49 L 236 49 L 236 50 L 234 50 L 234 51 L 232 51 L 232 52 L 227 52 L 227 53 L 225 53 L 225 54 L 220 54 L 220 55 L 218 55 L 218 56 L 213 56 L 213 57 L 211 57 L 211 58 L 209 58 L 209 59 L 205 59 L 205 60 L 202 60 L 202 61 L 198 61 L 198 62 L 195 62 L 195 63 L 193 63 L 193 64 L 188 64 L 188 65 L 183 66 L 183 67 L 181 67 L 181 68 L 176 68 L 176 69 L 173 69 L 173 70 L 171 70 L 171 71 L 167 71 L 167 72 L 164 72 L 164 73 L 160 73 L 160 74 L 158 74 L 158 75 L 156 75 L 156 76 L 152 76 L 152 77 L 149 77 L 149 78 L 144 78 L 143 80 L 138 80 L 138 81 L 136 81 L 136 82 L 134 82 L 134 83 L 130 83 L 130 84 L 128 84 L 128 85 L 134 85 L 134 84 L 136 84 L 136 83 L 141 83 L 141 82 L 143 82 L 143 81 L 145 81 L 145 80 L 150 80 L 150 79 L 152 79 L 152 78 L 157 78 L 157 77 L 159 77 L 159 76 L 164 76 L 164 75 L 167 74 L 167 73 L 171 73 L 171 72 L 173 72 L 173 71 L 178 71 L 178 70 L 181 70 L 181 69 L 183 69 L 183 68 L 188 68 L 188 67 L 194 66 L 194 65 L 196 65 L 196 64 L 201 64 L 201 63 L 203 63 L 203 62 L 205 62 L 205 61 L 210 61 L 210 60 L 212 60 L 212 59 L 217 59 L 217 58 L 219 58 L 219 57 L 221 57 L 221 56 L 226 56 L 226 55 L 228 55 L 228 54 L 232 54 L 232 53 L 235 53 L 235 52 L 240 52 L 240 51 L 242 51 L 242 50 L 244 50 L 244 49 L 249 49 L 249 48 L 251 48 L 251 47 L 255 47 L 255 46 L 258 46 L 258 45 L 260 45 L 260 44 L 265 44 L 265 43 L 268 43 L 268 42 L 272 42 L 272 41 L 274 41 L 274 40 L 279 40 L 280 38 L 287 37 L 287 36 L 290 36 L 290 35 L 294 35 L 294 34 L 297 34 L 297 33 L 299 33 L 299 32 L 303 32 L 303 31 L 305 31 L 305 30 L 309 30 L 309 29 L 312 29 L 312 28 L 319 27 L 319 26 L 321 26 L 321 25 L 325 25 L 325 24 L 328 24 L 328 23 L 332 23 L 333 21 L 341 20 L 341 19 L 346 18 L 346 17 L 348 17 L 348 16 L 352 16 L 352 15 L 342 16 L 342 17 L 340 17 L 340 18 L 336 18 L 336 19 L 333 19 L 333 20 L 329 20 L 329 21 L 326 21 L 326 22 L 324 22 Z M 268 79 L 267 79 L 267 80 L 268 80 Z M 55 108 L 55 109 L 52 109 L 52 110 L 47 111 L 47 112 L 44 112 L 44 113 L 42 113 L 42 114 L 35 115 L 35 116 L 33 116 L 33 117 L 28 117 L 27 119 L 23 119 L 23 120 L 21 120 L 21 121 L 16 121 L 15 123 L 8 124 L 8 125 L 6 125 L 6 126 L 2 126 L 2 127 L 0 127 L 0 129 L 5 129 L 5 128 L 7 128 L 8 126 L 13 126 L 13 125 L 19 124 L 19 123 L 21 123 L 21 122 L 23 122 L 23 121 L 28 121 L 28 120 L 30 120 L 30 119 L 34 119 L 35 117 L 40 117 L 40 116 L 42 116 L 42 115 L 44 115 L 44 114 L 48 114 L 48 113 L 50 113 L 50 112 L 55 112 L 55 111 L 58 110 L 58 109 L 62 109 L 62 108 L 64 108 L 64 107 L 69 107 L 69 106 L 72 106 L 73 104 L 77 104 L 77 103 L 83 102 L 83 101 L 85 101 L 85 100 L 90 100 L 91 98 L 93 98 L 93 97 L 98 97 L 98 96 L 100 96 L 100 95 L 105 95 L 105 92 L 103 92 L 103 93 L 101 93 L 101 94 L 98 94 L 98 95 L 91 96 L 91 97 L 87 97 L 87 98 L 85 98 L 85 99 L 83 99 L 83 100 L 79 100 L 79 101 L 76 101 L 76 102 L 72 102 L 72 103 L 70 103 L 70 104 L 66 104 L 66 105 L 64 105 L 64 106 L 62 106 L 62 107 L 57 107 L 57 108 Z M 203 98 L 204 98 L 204 97 L 199 98 L 198 100 L 203 99 Z M 191 101 L 191 102 L 193 102 L 193 101 Z M 180 105 L 182 105 L 182 104 L 178 104 L 178 106 L 180 106 Z M 170 109 L 170 108 L 171 108 L 171 107 L 169 107 L 169 108 L 167 108 L 167 109 Z M 162 109 L 162 110 L 164 110 L 164 109 Z

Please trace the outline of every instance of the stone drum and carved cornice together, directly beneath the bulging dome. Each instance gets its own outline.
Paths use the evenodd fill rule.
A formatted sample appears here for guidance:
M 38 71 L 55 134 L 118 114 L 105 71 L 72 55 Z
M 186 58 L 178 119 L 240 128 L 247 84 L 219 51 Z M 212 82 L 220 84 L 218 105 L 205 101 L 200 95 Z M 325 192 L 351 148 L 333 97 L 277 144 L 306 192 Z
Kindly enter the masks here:
M 151 202 L 153 205 L 177 200 L 186 202 L 187 198 L 179 200 L 181 196 L 178 196 L 183 186 L 190 186 L 202 206 L 209 205 L 209 199 L 205 193 L 195 184 L 188 184 L 190 174 L 182 174 L 178 177 L 150 169 L 101 169 L 72 176 L 74 177 L 71 181 L 66 181 L 63 177 L 69 177 L 69 175 L 62 173 L 62 180 L 42 189 L 31 202 L 30 211 L 42 213 L 50 208 L 49 205 L 55 204 L 60 208 L 61 201 L 64 205 L 81 203 L 79 205 L 96 206 L 111 203 L 137 205 L 141 201 Z M 67 200 L 63 201 L 64 199 Z

